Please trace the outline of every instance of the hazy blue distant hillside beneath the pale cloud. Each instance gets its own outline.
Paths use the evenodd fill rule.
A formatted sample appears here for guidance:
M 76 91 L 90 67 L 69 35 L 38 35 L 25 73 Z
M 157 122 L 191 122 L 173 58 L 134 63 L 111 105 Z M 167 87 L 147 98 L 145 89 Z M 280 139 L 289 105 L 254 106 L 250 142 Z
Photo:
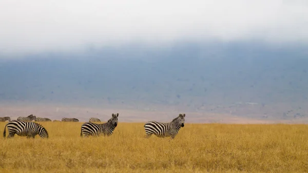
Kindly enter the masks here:
M 307 71 L 305 49 L 243 43 L 38 54 L 0 62 L 0 100 L 294 119 L 308 116 Z

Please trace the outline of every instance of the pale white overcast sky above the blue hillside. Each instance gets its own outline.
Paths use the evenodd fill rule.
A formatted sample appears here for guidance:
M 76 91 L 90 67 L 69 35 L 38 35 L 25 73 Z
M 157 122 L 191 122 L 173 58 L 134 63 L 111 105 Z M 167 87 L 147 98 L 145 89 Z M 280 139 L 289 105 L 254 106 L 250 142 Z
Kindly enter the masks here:
M 308 1 L 1 1 L 0 53 L 179 41 L 308 42 Z

